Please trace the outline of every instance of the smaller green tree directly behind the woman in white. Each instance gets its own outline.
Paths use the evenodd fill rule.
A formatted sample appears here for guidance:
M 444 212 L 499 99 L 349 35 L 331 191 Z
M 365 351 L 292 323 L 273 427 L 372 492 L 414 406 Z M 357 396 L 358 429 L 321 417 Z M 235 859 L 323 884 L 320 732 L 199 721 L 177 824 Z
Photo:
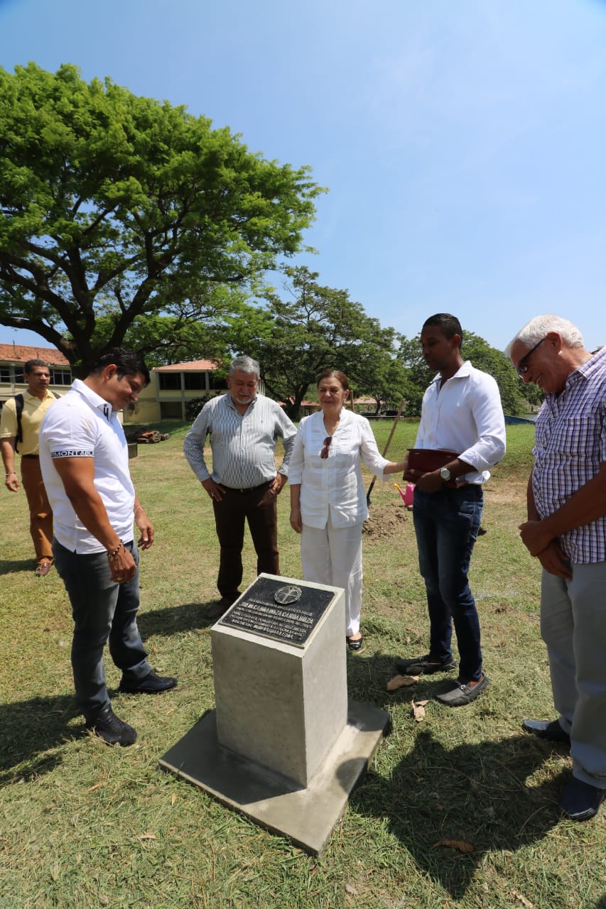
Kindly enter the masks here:
M 325 367 L 348 375 L 356 394 L 370 393 L 389 365 L 395 332 L 366 315 L 348 291 L 318 284 L 305 266 L 285 268 L 287 298 L 267 292 L 233 320 L 231 344 L 258 359 L 269 395 L 297 420 L 300 405 Z

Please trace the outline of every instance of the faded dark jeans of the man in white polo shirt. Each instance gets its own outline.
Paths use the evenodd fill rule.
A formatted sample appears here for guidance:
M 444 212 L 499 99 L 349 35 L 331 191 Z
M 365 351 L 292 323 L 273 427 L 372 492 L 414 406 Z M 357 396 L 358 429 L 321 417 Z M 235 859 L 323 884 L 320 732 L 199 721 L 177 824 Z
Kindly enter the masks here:
M 109 706 L 103 651 L 109 653 L 129 681 L 140 681 L 151 672 L 136 625 L 139 607 L 139 554 L 125 544 L 136 561 L 135 577 L 127 584 L 111 579 L 106 553 L 78 555 L 53 540 L 56 570 L 66 585 L 74 617 L 72 669 L 76 699 L 87 722 Z

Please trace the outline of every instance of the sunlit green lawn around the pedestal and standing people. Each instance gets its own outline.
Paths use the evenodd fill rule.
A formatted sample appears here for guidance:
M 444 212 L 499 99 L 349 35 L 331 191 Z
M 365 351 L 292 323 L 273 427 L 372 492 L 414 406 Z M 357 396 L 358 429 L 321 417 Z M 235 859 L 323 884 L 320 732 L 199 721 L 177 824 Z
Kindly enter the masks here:
M 390 425 L 374 428 L 382 448 Z M 186 427 L 171 430 L 167 442 L 139 445 L 131 464 L 157 528 L 141 559 L 140 627 L 152 663 L 179 685 L 157 698 L 116 693 L 116 713 L 138 732 L 131 748 L 84 734 L 63 585 L 55 572 L 34 576 L 23 494 L 0 498 L 0 909 L 604 909 L 606 812 L 589 824 L 561 820 L 570 759 L 520 731 L 523 716 L 553 714 L 539 565 L 517 531 L 531 427 L 508 429 L 472 560 L 490 688 L 460 710 L 429 700 L 421 723 L 410 702 L 431 698 L 439 681 L 386 691 L 393 657 L 426 650 L 411 515 L 391 482 L 375 484 L 364 539 L 365 647 L 348 654 L 348 687 L 389 710 L 392 729 L 318 858 L 158 770 L 158 757 L 214 706 L 204 617 L 217 595 L 212 509 L 183 458 Z M 389 456 L 413 445 L 415 430 L 401 423 Z M 288 489 L 278 511 L 282 572 L 298 576 Z M 245 580 L 253 578 L 247 538 Z M 106 671 L 115 692 L 109 660 Z M 443 840 L 468 841 L 473 852 L 436 845 Z

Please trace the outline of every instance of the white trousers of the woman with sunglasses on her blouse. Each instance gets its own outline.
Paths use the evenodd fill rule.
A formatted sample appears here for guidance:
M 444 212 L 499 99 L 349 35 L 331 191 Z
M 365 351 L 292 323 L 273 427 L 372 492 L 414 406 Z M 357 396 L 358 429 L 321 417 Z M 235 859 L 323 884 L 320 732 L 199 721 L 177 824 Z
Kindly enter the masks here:
M 345 634 L 359 632 L 362 607 L 362 523 L 309 527 L 301 531 L 301 566 L 306 581 L 330 584 L 345 591 Z

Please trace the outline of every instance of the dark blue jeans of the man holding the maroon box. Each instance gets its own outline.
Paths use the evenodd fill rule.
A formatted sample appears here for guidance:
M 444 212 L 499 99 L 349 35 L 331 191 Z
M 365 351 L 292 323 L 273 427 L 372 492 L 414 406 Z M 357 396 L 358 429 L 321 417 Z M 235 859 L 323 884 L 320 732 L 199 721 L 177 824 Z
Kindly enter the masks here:
M 482 674 L 480 620 L 468 582 L 473 544 L 478 538 L 483 492 L 480 485 L 437 493 L 415 489 L 412 518 L 419 548 L 419 569 L 427 589 L 429 654 L 451 660 L 452 624 L 459 646 L 459 679 Z

